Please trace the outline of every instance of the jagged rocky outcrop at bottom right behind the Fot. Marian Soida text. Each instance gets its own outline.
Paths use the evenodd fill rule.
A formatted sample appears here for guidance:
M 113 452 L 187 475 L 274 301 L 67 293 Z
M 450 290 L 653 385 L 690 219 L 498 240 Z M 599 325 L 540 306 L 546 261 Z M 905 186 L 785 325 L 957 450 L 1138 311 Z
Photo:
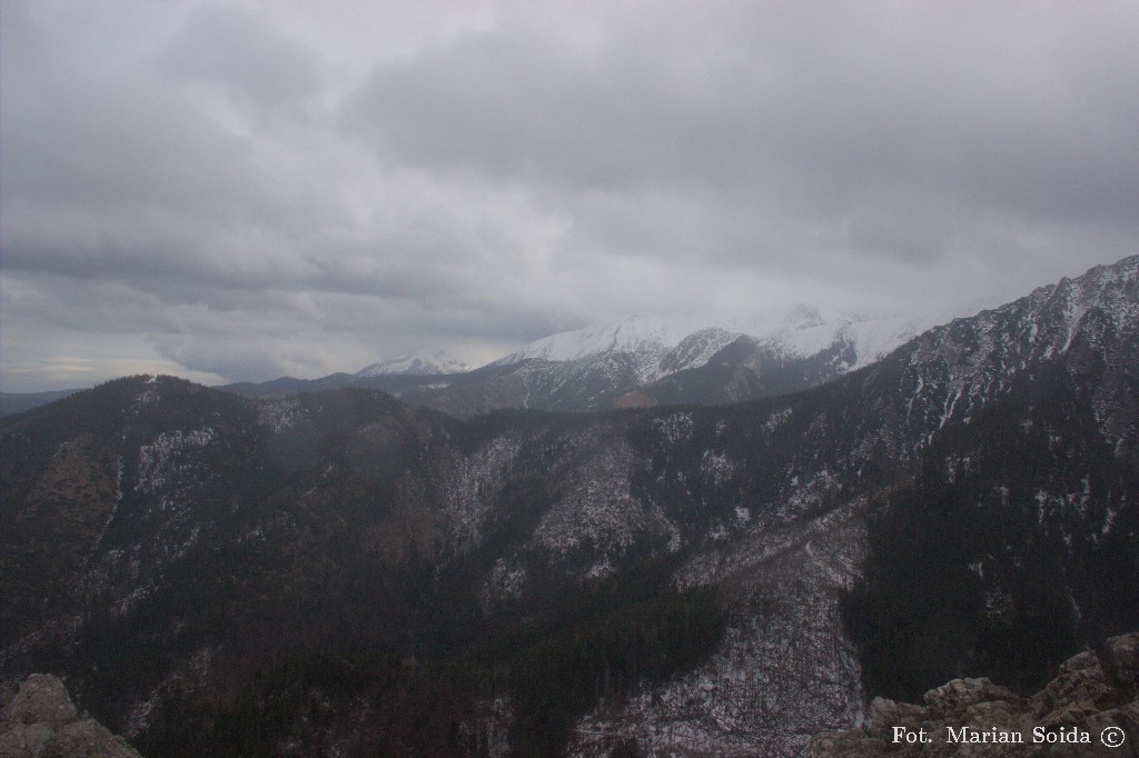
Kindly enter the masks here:
M 1139 756 L 1139 633 L 1082 652 L 1021 698 L 989 679 L 953 679 L 925 707 L 875 698 L 861 728 L 816 735 L 805 756 Z

